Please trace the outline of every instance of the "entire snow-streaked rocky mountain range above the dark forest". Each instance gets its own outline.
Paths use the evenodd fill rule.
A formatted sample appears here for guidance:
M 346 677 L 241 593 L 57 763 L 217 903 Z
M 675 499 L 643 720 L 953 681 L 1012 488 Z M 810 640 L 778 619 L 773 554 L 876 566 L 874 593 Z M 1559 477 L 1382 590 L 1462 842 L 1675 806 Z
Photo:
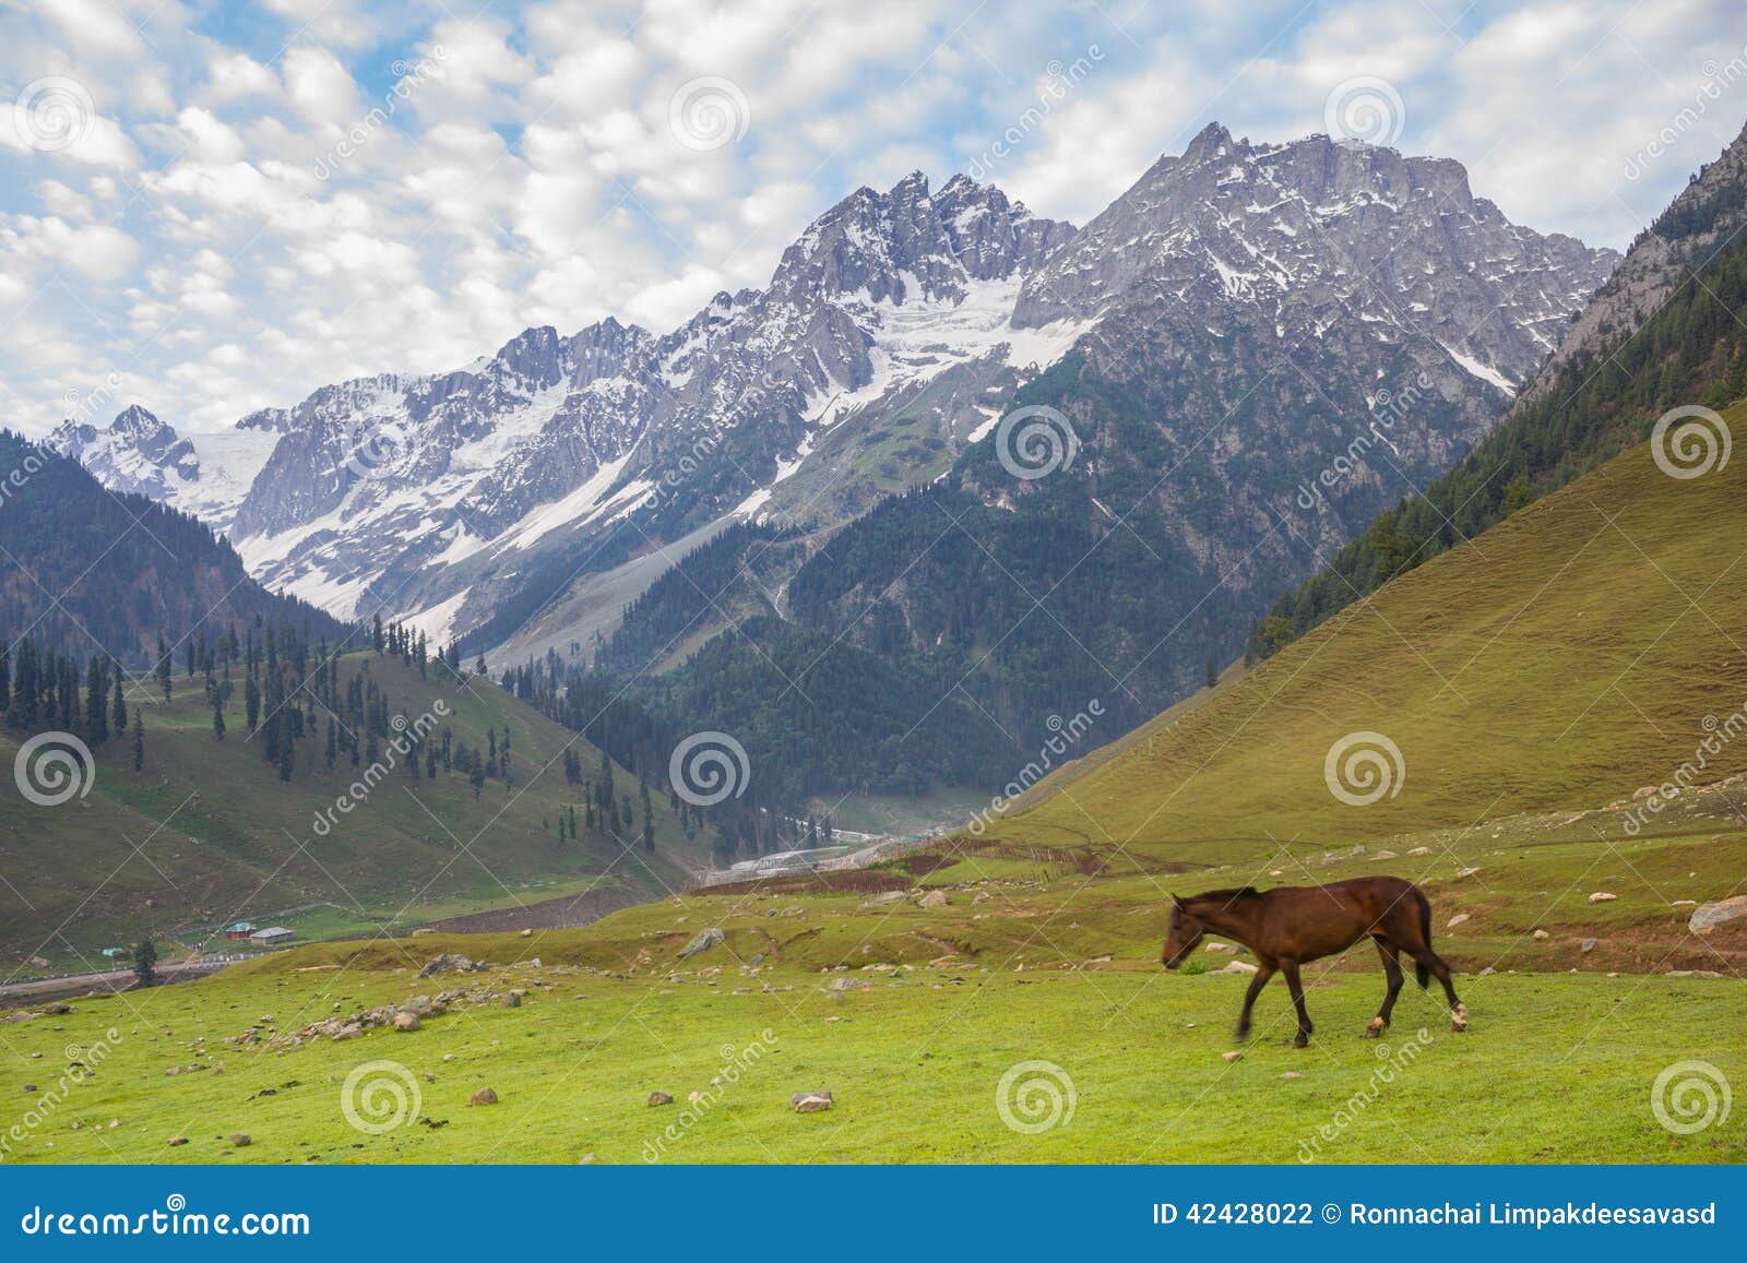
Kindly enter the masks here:
M 1076 344 L 1158 400 L 1214 372 L 1209 398 L 1242 390 L 1239 348 L 1321 346 L 1335 409 L 1357 418 L 1357 384 L 1412 365 L 1438 400 L 1412 463 L 1448 463 L 1614 262 L 1511 225 L 1455 162 L 1212 126 L 1080 232 L 968 176 L 931 190 L 912 173 L 858 189 L 769 286 L 666 335 L 531 328 L 454 372 L 252 414 L 231 454 L 143 411 L 58 440 L 105 482 L 203 514 L 271 587 L 500 643 L 590 575 L 646 583 L 653 550 L 735 515 L 830 528 L 945 473 Z M 604 618 L 634 596 L 599 590 Z M 564 610 L 517 653 L 599 625 Z

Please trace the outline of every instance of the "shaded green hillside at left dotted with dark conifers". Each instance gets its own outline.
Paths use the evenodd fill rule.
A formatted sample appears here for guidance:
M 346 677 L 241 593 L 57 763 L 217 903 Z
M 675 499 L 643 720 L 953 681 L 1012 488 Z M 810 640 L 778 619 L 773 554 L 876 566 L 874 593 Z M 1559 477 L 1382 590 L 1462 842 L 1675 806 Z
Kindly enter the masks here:
M 657 854 L 641 844 L 627 851 L 603 832 L 561 842 L 561 807 L 583 816 L 585 790 L 566 783 L 559 758 L 573 734 L 496 685 L 442 681 L 435 671 L 421 680 L 395 657 L 348 655 L 341 676 L 362 664 L 412 721 L 440 701 L 447 716 L 438 723 L 472 748 L 486 746 L 487 728 L 508 727 L 512 783 L 489 779 L 475 798 L 459 772 L 438 767 L 435 779 L 412 779 L 402 758 L 360 805 L 335 812 L 365 767 L 342 755 L 328 770 L 318 737 L 299 742 L 292 781 L 281 783 L 259 739 L 248 737 L 239 697 L 225 739 L 215 741 L 199 676 L 178 671 L 169 704 L 155 680 L 138 680 L 129 706 L 145 716 L 140 772 L 131 741 L 112 737 L 96 751 L 82 798 L 35 805 L 10 776 L 3 781 L 0 980 L 42 973 L 19 966 L 30 954 L 45 957 L 52 973 L 77 971 L 96 966 L 110 945 L 143 935 L 192 943 L 238 919 L 330 935 L 589 887 L 660 894 L 683 882 L 676 852 L 708 852 L 708 835 L 685 842 L 664 795 L 653 797 Z M 596 776 L 599 753 L 582 741 L 573 749 Z M 0 735 L 9 772 L 16 755 L 16 739 Z M 636 777 L 624 769 L 615 790 L 638 800 Z M 321 812 L 332 812 L 325 833 Z

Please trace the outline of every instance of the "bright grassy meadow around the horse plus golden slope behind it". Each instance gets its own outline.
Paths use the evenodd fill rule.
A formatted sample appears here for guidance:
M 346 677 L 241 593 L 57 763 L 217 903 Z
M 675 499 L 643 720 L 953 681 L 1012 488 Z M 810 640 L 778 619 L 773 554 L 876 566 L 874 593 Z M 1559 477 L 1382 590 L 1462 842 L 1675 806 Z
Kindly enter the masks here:
M 987 832 L 861 872 L 14 1010 L 14 1076 L 101 1064 L 7 1160 L 1742 1162 L 1738 1128 L 1668 1125 L 1667 1080 L 1747 1074 L 1747 753 L 1714 674 L 1738 585 L 1698 578 L 1744 482 L 1633 447 Z M 1511 666 L 1537 646 L 1558 666 Z M 1403 758 L 1370 804 L 1326 769 L 1361 725 Z M 1307 971 L 1302 1052 L 1279 985 L 1233 1050 L 1242 950 L 1158 968 L 1170 893 L 1377 872 L 1431 898 L 1467 1032 L 1410 987 L 1361 1038 L 1368 945 Z

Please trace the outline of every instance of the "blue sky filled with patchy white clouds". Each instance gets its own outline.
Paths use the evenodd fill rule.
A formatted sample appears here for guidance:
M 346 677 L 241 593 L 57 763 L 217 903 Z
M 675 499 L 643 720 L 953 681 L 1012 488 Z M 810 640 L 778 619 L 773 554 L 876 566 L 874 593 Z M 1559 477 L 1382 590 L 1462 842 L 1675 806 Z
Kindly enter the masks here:
M 1738 0 L 0 0 L 0 423 L 180 428 L 529 325 L 666 330 L 921 168 L 1085 222 L 1209 121 L 1455 157 L 1625 246 Z M 10 108 L 10 112 L 7 112 Z

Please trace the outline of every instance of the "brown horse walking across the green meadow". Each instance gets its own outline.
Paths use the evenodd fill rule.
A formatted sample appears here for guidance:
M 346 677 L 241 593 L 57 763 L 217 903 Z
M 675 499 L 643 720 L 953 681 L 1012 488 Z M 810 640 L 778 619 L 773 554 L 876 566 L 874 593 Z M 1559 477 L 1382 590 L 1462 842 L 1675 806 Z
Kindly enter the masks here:
M 1293 1046 L 1310 1043 L 1310 1013 L 1305 1011 L 1298 966 L 1345 952 L 1366 935 L 1377 942 L 1377 954 L 1384 957 L 1389 990 L 1364 1034 L 1382 1034 L 1389 1025 L 1389 1011 L 1401 994 L 1401 952 L 1413 957 L 1420 987 L 1433 975 L 1443 983 L 1443 994 L 1450 997 L 1452 1029 L 1467 1029 L 1467 1006 L 1455 997 L 1450 966 L 1431 950 L 1431 903 L 1413 882 L 1399 877 L 1354 877 L 1328 886 L 1281 886 L 1272 891 L 1244 886 L 1237 891 L 1191 894 L 1186 900 L 1176 894 L 1170 898 L 1176 908 L 1170 912 L 1170 935 L 1160 957 L 1167 970 L 1183 964 L 1207 933 L 1232 938 L 1256 956 L 1256 977 L 1249 980 L 1244 1013 L 1237 1018 L 1239 1039 L 1249 1036 L 1249 1011 L 1256 996 L 1281 971 L 1298 1010 L 1298 1038 Z

